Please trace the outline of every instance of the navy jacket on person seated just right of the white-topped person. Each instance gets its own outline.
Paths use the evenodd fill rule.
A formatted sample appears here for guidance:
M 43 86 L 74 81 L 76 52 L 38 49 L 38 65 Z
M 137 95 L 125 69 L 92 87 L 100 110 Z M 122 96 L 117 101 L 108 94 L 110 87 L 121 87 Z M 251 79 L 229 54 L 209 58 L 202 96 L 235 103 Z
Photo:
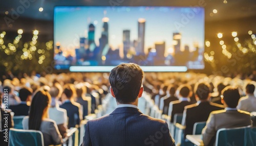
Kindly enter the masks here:
M 80 124 L 78 106 L 73 105 L 71 102 L 65 102 L 59 107 L 67 110 L 67 115 L 69 117 L 68 129 L 70 129 L 70 127 L 75 127 L 77 124 Z

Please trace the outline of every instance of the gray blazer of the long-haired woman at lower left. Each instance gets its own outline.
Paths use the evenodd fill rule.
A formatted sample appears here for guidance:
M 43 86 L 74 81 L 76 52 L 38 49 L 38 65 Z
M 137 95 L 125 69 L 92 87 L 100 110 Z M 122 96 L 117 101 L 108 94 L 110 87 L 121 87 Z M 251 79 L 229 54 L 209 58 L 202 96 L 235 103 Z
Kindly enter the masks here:
M 29 116 L 24 117 L 22 121 L 23 129 L 29 129 Z M 58 145 L 62 143 L 62 137 L 54 120 L 45 119 L 42 121 L 39 131 L 44 136 L 45 145 Z

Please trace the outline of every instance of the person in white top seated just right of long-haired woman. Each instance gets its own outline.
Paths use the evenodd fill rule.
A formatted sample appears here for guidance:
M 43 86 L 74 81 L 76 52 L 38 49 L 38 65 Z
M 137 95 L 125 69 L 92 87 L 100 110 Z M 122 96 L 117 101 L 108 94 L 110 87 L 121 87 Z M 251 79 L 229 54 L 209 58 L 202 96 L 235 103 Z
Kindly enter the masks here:
M 51 87 L 49 93 L 52 97 L 51 107 L 49 108 L 49 118 L 56 122 L 62 138 L 65 138 L 68 128 L 67 111 L 59 108 L 58 99 L 60 97 L 60 93 L 58 87 Z

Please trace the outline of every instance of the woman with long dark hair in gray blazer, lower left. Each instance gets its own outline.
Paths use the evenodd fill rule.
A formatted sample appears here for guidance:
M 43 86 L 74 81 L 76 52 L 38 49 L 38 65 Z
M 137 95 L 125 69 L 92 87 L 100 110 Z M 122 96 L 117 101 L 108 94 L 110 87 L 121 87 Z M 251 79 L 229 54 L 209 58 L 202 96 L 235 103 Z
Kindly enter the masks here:
M 41 131 L 45 145 L 58 145 L 62 143 L 62 138 L 55 121 L 49 118 L 50 103 L 51 95 L 47 91 L 36 91 L 29 116 L 24 117 L 22 124 L 25 130 Z

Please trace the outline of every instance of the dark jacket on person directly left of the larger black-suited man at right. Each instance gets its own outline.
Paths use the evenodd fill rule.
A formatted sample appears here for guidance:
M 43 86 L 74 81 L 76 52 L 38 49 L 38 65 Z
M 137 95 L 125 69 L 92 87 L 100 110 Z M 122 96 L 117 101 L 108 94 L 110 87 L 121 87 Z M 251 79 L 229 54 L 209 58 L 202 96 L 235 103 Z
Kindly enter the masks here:
M 174 102 L 170 102 L 169 104 L 169 110 L 168 110 L 168 115 L 171 115 L 170 117 L 170 123 L 174 123 L 174 115 L 176 113 L 183 113 L 184 111 L 184 107 L 187 105 L 191 105 L 191 102 L 188 101 L 174 101 Z M 170 105 L 172 105 L 170 107 Z

